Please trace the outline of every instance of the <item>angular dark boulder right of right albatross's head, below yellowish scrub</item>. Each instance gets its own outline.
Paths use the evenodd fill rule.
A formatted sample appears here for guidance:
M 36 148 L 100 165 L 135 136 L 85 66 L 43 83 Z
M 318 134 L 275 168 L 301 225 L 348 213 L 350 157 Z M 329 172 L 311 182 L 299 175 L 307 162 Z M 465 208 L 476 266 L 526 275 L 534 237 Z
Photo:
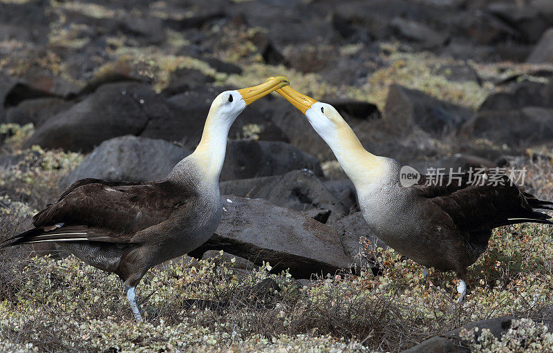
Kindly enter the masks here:
M 407 131 L 419 126 L 424 131 L 438 135 L 458 128 L 471 115 L 465 108 L 397 84 L 390 86 L 384 113 L 387 120 L 403 126 Z

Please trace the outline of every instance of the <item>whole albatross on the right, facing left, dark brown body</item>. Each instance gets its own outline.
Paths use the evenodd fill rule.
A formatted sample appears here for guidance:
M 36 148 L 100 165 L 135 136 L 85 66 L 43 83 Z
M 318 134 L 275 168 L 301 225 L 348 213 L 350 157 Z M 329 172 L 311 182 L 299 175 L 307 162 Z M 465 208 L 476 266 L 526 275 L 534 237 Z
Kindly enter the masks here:
M 355 185 L 371 232 L 420 265 L 455 271 L 460 278 L 459 303 L 467 292 L 467 267 L 487 249 L 491 229 L 523 222 L 553 225 L 550 216 L 536 211 L 552 210 L 553 202 L 525 193 L 505 174 L 499 175 L 500 182 L 485 182 L 491 178 L 491 170 L 480 178 L 465 172 L 451 180 L 444 176 L 441 182 L 421 175 L 418 182 L 404 187 L 402 164 L 366 151 L 330 104 L 317 102 L 290 86 L 277 93 L 305 114 L 330 146 Z

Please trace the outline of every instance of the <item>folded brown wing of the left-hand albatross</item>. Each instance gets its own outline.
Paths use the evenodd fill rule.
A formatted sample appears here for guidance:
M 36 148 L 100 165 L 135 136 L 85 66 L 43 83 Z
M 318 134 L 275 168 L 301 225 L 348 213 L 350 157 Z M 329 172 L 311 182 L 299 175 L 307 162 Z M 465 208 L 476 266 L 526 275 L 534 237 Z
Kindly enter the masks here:
M 130 242 L 137 231 L 164 222 L 195 196 L 195 191 L 173 182 L 79 180 L 33 217 L 35 229 L 2 246 L 47 241 Z

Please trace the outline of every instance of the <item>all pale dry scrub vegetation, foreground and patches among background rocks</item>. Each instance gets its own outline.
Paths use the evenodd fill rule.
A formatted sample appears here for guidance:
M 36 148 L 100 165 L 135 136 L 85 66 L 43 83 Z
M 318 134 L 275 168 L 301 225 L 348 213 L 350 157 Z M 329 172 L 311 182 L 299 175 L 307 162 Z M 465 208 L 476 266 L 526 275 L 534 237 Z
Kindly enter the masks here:
M 54 7 L 73 5 L 53 1 Z M 91 17 L 113 16 L 102 6 L 79 6 L 77 10 Z M 86 45 L 86 38 L 74 38 L 55 23 L 52 26 L 51 43 Z M 384 64 L 364 84 L 334 86 L 318 74 L 261 64 L 259 57 L 250 57 L 255 51 L 250 41 L 254 31 L 227 33 L 228 48 L 218 48 L 216 54 L 228 61 L 240 60 L 244 68 L 241 75 L 216 73 L 203 61 L 176 55 L 186 39 L 172 31 L 165 48 L 124 46 L 124 39 L 107 37 L 113 48 L 106 55 L 109 62 L 100 63 L 96 72 L 102 75 L 118 64 L 129 65 L 140 76 L 149 77 L 158 91 L 167 86 L 171 72 L 178 68 L 196 68 L 214 77 L 216 84 L 236 87 L 250 86 L 278 73 L 290 77 L 294 88 L 313 97 L 361 99 L 381 110 L 391 83 L 473 110 L 496 90 L 487 81 L 482 86 L 449 81 L 434 68 L 456 62 L 431 53 L 400 53 L 395 44 L 382 44 L 386 49 L 386 54 L 382 53 Z M 348 53 L 358 49 L 342 48 Z M 24 73 L 29 66 L 65 75 L 54 55 L 33 63 L 12 60 L 0 59 L 0 68 L 10 68 L 10 75 Z M 497 78 L 498 71 L 508 76 L 528 70 L 525 64 L 512 63 L 508 70 L 501 64 L 471 66 L 484 79 Z M 83 86 L 84 82 L 75 84 Z M 357 131 L 360 137 L 373 139 L 385 124 L 359 126 Z M 59 195 L 57 182 L 83 157 L 62 151 L 21 150 L 21 142 L 31 132 L 32 126 L 0 126 L 0 138 L 6 137 L 0 155 L 23 156 L 14 168 L 0 169 L 0 191 L 9 191 L 0 193 L 0 240 L 15 234 L 30 214 L 55 200 Z M 314 133 L 307 137 L 304 131 L 298 133 L 301 139 L 296 140 L 305 144 L 299 147 L 306 151 L 313 143 L 310 139 L 318 138 Z M 551 152 L 538 152 L 541 157 L 525 164 L 529 170 L 527 184 L 536 195 L 553 199 L 553 163 L 547 158 Z M 326 153 L 330 157 L 330 150 Z M 324 160 L 328 169 L 339 169 L 328 159 Z M 524 319 L 500 340 L 482 335 L 480 341 L 472 341 L 473 350 L 498 352 L 508 347 L 505 352 L 553 351 L 553 338 L 547 333 L 553 330 L 553 319 L 551 310 L 545 310 L 553 305 L 551 227 L 515 225 L 496 230 L 489 251 L 469 269 L 469 292 L 462 306 L 456 305 L 453 274 L 430 269 L 424 278 L 420 265 L 393 251 L 378 251 L 370 244 L 367 250 L 375 254 L 378 276 L 366 269 L 359 277 L 332 274 L 314 278 L 306 286 L 289 274 L 272 274 L 269 264 L 242 278 L 233 273 L 232 263 L 218 267 L 212 260 L 194 266 L 184 259 L 173 260 L 149 271 L 138 287 L 139 300 L 148 313 L 147 322 L 142 324 L 133 320 L 116 276 L 73 257 L 29 257 L 22 249 L 3 249 L 0 351 L 398 352 L 469 321 L 505 314 Z M 280 290 L 275 292 L 271 283 L 278 283 Z M 471 332 L 463 334 L 469 341 L 474 337 Z

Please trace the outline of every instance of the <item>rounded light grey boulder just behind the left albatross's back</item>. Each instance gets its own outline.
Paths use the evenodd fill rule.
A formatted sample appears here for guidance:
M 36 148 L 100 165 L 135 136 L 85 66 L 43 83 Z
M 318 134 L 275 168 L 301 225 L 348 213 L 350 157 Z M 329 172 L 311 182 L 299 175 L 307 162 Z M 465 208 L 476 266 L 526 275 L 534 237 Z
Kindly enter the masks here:
M 77 180 L 148 181 L 165 178 L 190 151 L 164 140 L 122 136 L 102 142 L 83 162 L 71 171 L 62 184 L 68 187 Z

